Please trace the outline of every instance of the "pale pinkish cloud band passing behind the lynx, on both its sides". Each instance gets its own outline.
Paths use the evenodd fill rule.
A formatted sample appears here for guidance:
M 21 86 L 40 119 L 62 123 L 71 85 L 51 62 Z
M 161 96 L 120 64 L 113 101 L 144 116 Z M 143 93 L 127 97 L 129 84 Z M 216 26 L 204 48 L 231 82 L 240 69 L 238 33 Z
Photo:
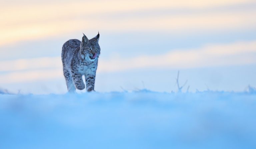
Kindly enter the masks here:
M 133 69 L 191 69 L 201 67 L 256 64 L 256 41 L 205 45 L 198 49 L 178 49 L 163 55 L 104 59 L 97 73 Z M 1 73 L 2 72 L 2 73 Z M 61 58 L 21 59 L 0 62 L 0 83 L 47 80 L 63 77 Z

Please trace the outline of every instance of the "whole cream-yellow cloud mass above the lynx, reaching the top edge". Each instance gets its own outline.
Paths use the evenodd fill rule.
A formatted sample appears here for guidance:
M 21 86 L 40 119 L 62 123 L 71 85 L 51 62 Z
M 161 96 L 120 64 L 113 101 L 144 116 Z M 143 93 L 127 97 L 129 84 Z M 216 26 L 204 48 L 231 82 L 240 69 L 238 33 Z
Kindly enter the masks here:
M 216 31 L 251 29 L 256 26 L 255 10 L 218 11 L 197 14 L 163 14 L 111 18 L 122 12 L 162 9 L 202 9 L 254 3 L 253 0 L 217 1 L 100 1 L 12 5 L 1 9 L 0 46 L 20 41 L 86 30 L 129 31 Z M 106 16 L 106 14 L 109 14 Z M 1 49 L 2 50 L 2 49 Z

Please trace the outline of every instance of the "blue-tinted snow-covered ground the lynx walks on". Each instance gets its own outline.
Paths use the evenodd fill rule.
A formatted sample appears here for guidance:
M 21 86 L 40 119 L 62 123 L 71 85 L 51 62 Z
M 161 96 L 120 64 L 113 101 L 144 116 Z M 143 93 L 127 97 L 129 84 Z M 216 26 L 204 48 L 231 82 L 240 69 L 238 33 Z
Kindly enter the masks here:
M 1 149 L 253 149 L 255 140 L 255 90 L 0 94 Z

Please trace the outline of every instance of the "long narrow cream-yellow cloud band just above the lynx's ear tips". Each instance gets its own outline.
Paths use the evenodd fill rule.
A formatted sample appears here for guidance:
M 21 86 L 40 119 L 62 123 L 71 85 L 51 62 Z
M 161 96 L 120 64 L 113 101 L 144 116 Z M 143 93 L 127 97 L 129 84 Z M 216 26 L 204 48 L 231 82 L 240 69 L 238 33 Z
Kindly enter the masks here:
M 0 28 L 0 46 L 19 41 L 63 36 L 76 31 L 103 30 L 109 32 L 165 31 L 174 33 L 236 31 L 253 29 L 256 11 L 208 14 L 183 14 L 116 20 L 72 19 L 30 24 L 8 25 Z M 89 20 L 89 19 L 88 19 Z M 1 49 L 2 50 L 2 49 Z

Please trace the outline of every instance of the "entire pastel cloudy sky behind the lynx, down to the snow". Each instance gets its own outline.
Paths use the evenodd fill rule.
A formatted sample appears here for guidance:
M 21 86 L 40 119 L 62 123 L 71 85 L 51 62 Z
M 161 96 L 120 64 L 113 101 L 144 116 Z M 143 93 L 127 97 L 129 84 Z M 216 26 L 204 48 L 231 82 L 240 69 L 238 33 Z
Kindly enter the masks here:
M 0 10 L 0 88 L 13 93 L 65 93 L 62 45 L 98 31 L 96 91 L 177 91 L 178 71 L 183 91 L 256 86 L 255 0 L 10 0 Z

